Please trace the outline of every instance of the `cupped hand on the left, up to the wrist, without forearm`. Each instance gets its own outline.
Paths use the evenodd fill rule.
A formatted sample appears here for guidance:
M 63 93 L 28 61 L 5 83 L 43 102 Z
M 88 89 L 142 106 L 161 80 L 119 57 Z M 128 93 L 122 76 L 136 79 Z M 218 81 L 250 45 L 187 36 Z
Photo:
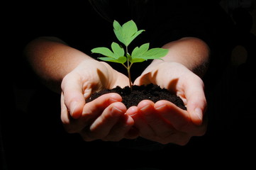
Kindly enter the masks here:
M 125 114 L 121 96 L 105 94 L 85 103 L 94 91 L 128 86 L 128 82 L 105 62 L 86 60 L 79 64 L 62 80 L 61 119 L 67 132 L 78 132 L 86 141 L 130 138 L 126 133 L 134 121 Z

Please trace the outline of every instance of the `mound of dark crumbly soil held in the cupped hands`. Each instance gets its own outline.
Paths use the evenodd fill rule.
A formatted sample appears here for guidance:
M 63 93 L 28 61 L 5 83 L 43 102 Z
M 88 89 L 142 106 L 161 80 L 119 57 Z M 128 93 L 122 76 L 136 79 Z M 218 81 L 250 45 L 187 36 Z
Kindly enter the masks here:
M 167 89 L 161 89 L 160 86 L 155 84 L 149 84 L 147 86 L 133 86 L 133 91 L 130 91 L 129 86 L 126 86 L 123 89 L 120 86 L 117 86 L 114 89 L 104 89 L 102 91 L 91 94 L 91 97 L 87 100 L 87 102 L 93 101 L 95 98 L 108 93 L 120 94 L 123 98 L 122 102 L 126 105 L 126 108 L 130 108 L 130 106 L 138 106 L 140 101 L 148 99 L 154 103 L 160 100 L 171 101 L 179 108 L 184 110 L 187 109 L 184 106 L 181 98 L 175 94 L 172 94 Z

